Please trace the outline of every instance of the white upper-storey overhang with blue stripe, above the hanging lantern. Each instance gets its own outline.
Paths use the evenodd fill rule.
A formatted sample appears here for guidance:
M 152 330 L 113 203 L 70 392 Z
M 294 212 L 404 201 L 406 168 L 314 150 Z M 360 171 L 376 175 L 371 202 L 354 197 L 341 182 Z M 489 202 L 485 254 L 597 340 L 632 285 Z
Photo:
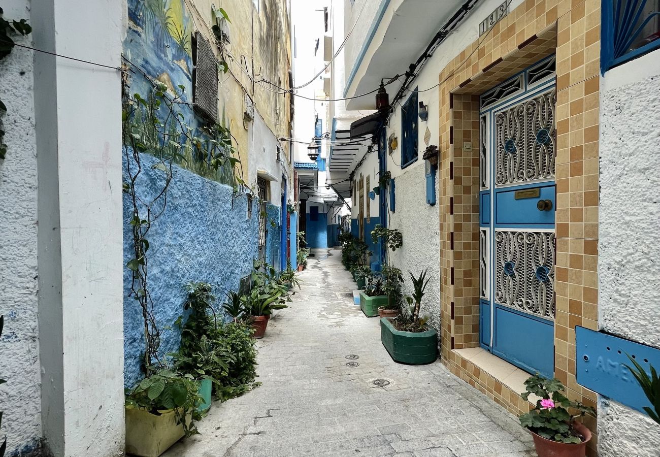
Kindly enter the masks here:
M 362 48 L 352 68 L 347 68 L 344 96 L 367 94 L 376 90 L 382 79 L 405 73 L 464 2 L 381 0 Z M 392 96 L 399 88 L 397 81 L 387 85 L 387 92 Z M 376 109 L 376 93 L 347 100 L 347 109 Z

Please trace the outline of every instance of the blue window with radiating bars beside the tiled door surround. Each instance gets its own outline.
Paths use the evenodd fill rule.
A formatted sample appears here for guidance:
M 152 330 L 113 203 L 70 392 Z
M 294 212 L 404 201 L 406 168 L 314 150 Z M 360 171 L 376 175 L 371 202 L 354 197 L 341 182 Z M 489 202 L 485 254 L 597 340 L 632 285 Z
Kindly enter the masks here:
M 603 0 L 601 71 L 660 48 L 660 0 Z

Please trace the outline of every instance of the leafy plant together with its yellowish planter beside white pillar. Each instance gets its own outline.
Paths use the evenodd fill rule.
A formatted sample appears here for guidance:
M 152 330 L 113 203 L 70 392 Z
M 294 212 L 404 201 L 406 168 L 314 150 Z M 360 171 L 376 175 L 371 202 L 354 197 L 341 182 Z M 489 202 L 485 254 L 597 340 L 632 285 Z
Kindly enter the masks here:
M 199 384 L 191 374 L 156 369 L 126 392 L 126 452 L 158 457 L 197 433 Z

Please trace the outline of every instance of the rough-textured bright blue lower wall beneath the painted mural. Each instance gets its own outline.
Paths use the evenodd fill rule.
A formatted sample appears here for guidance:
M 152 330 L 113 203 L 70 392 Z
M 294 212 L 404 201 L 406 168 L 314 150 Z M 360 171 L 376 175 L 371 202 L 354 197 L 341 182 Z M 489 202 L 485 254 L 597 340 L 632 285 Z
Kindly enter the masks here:
M 156 158 L 144 154 L 141 160 L 145 171 L 137 180 L 136 189 L 149 199 L 162 188 L 163 174 L 150 168 Z M 238 290 L 240 278 L 252 269 L 252 260 L 258 254 L 259 217 L 253 212 L 248 219 L 248 197 L 232 197 L 233 192 L 229 186 L 174 167 L 166 211 L 154 222 L 147 236 L 150 242 L 149 283 L 156 322 L 161 329 L 172 327 L 162 332 L 160 351 L 163 354 L 176 351 L 180 344 L 180 332 L 174 322 L 183 314 L 183 285 L 187 281 L 212 283 L 217 286 L 217 295 L 222 296 L 222 291 Z M 124 196 L 123 217 L 124 262 L 128 262 L 132 257 L 128 195 Z M 125 297 L 130 285 L 130 271 L 124 268 Z M 141 308 L 135 300 L 126 298 L 124 383 L 127 387 L 143 377 L 140 364 L 144 346 Z

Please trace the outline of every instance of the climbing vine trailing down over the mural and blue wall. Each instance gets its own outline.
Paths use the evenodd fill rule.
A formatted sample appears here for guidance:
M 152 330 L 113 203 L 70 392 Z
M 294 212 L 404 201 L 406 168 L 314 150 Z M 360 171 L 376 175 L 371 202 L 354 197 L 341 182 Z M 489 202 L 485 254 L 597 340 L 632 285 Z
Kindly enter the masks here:
M 218 124 L 191 127 L 185 123 L 185 116 L 177 109 L 182 106 L 183 94 L 183 86 L 172 93 L 168 92 L 166 85 L 154 82 L 146 97 L 136 93 L 125 95 L 123 100 L 123 192 L 128 195 L 131 205 L 132 247 L 132 256 L 126 267 L 131 271 L 129 297 L 138 302 L 143 315 L 143 371 L 146 376 L 152 374 L 153 367 L 163 365 L 158 352 L 161 330 L 156 325 L 149 289 L 147 252 L 150 248 L 149 230 L 162 217 L 167 206 L 172 167 L 192 160 L 195 167 L 233 174 L 238 162 L 232 157 L 234 147 L 226 127 Z M 150 167 L 143 160 L 145 154 L 156 159 Z M 157 187 L 153 193 L 141 193 L 138 180 L 149 168 L 156 173 L 154 182 Z

